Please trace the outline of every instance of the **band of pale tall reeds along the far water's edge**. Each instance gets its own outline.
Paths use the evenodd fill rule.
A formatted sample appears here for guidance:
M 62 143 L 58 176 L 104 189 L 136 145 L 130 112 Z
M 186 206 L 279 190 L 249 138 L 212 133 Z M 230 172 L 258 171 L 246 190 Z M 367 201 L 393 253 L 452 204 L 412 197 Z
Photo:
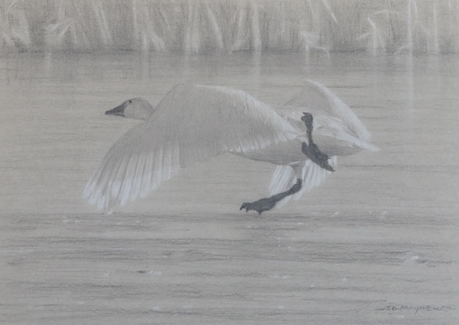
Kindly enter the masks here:
M 0 0 L 0 50 L 459 50 L 459 0 Z

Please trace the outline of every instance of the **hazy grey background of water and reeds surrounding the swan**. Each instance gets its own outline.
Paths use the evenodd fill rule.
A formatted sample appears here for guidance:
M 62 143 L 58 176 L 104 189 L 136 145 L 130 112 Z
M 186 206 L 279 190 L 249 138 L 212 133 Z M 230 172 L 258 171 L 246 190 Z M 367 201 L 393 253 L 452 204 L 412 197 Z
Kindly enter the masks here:
M 459 319 L 458 0 L 0 0 L 0 323 L 435 324 Z M 146 198 L 81 198 L 176 84 L 279 108 L 327 86 L 380 152 L 280 209 L 276 166 L 222 154 Z M 205 117 L 203 117 L 205 118 Z

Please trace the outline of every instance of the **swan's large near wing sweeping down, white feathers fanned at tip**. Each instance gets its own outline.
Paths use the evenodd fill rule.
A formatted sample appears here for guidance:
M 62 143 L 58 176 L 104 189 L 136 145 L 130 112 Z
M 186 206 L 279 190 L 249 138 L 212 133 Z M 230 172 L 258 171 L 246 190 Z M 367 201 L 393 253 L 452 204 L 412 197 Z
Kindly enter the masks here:
M 84 197 L 110 213 L 116 204 L 145 197 L 180 168 L 300 135 L 275 110 L 244 91 L 175 86 L 151 120 L 113 144 L 87 183 Z

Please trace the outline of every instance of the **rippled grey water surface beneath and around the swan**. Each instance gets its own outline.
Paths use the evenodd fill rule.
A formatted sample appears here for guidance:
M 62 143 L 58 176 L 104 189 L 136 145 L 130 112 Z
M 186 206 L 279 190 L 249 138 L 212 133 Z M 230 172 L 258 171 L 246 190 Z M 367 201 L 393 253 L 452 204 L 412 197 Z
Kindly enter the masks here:
M 273 107 L 328 86 L 381 151 L 281 209 L 275 166 L 229 154 L 107 216 L 86 181 L 174 84 Z M 0 59 L 1 324 L 456 324 L 459 57 L 42 55 Z M 204 118 L 204 117 L 203 117 Z

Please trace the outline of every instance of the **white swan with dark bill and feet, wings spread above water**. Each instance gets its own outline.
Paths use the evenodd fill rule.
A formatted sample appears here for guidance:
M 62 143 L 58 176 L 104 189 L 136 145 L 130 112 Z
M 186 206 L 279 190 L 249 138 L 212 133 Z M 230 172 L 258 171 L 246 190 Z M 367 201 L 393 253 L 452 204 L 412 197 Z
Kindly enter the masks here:
M 156 108 L 132 98 L 106 112 L 144 122 L 113 144 L 87 183 L 84 198 L 110 214 L 115 205 L 145 197 L 179 169 L 230 152 L 278 165 L 270 190 L 284 192 L 241 207 L 270 210 L 280 201 L 278 206 L 300 198 L 330 173 L 302 150 L 312 148 L 303 112 L 314 118 L 314 142 L 325 159 L 331 156 L 331 166 L 336 156 L 378 150 L 352 110 L 314 81 L 305 81 L 302 93 L 279 113 L 244 91 L 179 85 Z

